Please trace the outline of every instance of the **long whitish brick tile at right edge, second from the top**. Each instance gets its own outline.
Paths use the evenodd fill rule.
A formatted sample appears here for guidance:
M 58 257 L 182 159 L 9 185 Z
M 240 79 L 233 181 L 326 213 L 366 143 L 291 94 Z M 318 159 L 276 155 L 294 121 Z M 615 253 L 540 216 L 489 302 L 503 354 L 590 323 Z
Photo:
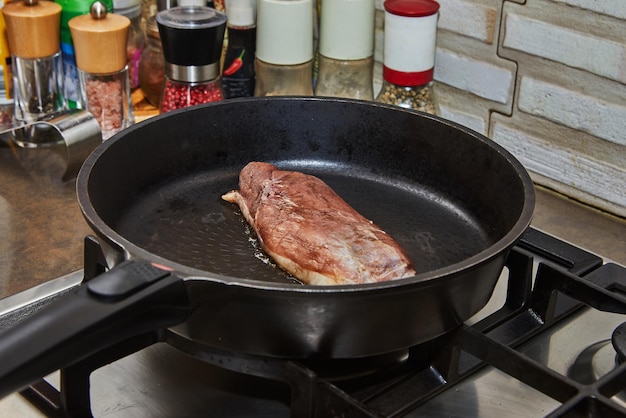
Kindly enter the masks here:
M 626 43 L 514 13 L 506 14 L 505 23 L 505 48 L 626 82 Z

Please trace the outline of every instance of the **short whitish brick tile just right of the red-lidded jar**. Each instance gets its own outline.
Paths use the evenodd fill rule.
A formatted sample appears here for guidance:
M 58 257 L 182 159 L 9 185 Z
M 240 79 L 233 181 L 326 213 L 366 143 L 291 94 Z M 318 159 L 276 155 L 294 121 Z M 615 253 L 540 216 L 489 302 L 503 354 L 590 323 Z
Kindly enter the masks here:
M 512 98 L 511 70 L 437 48 L 435 79 L 479 97 L 506 104 Z

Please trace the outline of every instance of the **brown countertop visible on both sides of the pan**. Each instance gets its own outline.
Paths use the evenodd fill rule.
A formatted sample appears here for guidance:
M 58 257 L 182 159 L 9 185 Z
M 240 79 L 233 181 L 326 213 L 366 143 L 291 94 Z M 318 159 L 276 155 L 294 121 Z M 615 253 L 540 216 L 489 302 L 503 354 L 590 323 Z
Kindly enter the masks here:
M 0 298 L 82 268 L 84 221 L 62 154 L 0 142 Z M 532 225 L 626 265 L 626 220 L 537 187 Z

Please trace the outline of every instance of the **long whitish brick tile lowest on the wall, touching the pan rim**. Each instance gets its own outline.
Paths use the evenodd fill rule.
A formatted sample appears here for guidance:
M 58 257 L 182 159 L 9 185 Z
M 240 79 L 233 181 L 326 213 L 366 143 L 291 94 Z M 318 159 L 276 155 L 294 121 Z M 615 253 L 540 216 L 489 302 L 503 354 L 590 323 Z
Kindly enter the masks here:
M 495 122 L 494 141 L 529 171 L 576 188 L 626 210 L 626 167 L 615 167 L 527 132 Z

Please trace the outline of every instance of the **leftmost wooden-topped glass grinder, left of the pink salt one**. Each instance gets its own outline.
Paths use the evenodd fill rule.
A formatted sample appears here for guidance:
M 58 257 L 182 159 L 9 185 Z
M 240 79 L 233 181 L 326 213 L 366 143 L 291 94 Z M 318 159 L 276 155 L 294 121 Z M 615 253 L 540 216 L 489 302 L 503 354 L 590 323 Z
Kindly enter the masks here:
M 63 97 L 61 6 L 11 2 L 2 9 L 13 61 L 15 122 L 45 119 L 66 108 Z

